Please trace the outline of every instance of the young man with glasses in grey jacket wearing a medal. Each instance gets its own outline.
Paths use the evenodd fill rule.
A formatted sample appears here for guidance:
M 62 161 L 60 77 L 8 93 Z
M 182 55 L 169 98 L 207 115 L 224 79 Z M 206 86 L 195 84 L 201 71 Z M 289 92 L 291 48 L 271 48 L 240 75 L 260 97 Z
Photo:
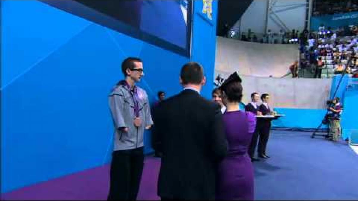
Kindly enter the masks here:
M 122 72 L 125 80 L 109 95 L 115 133 L 108 200 L 136 200 L 144 166 L 144 129 L 153 124 L 147 93 L 135 85 L 144 76 L 141 59 L 125 59 Z

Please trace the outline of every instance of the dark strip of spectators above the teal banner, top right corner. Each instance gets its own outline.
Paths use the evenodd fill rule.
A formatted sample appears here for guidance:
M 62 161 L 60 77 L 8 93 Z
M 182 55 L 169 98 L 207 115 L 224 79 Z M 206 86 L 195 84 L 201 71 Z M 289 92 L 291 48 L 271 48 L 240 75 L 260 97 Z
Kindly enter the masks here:
M 314 0 L 312 16 L 358 11 L 358 0 Z

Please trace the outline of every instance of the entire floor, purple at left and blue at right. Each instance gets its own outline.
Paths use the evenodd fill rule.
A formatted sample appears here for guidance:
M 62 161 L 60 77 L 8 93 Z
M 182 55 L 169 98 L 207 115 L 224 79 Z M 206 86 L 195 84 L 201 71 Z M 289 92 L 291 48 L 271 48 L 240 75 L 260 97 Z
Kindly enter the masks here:
M 358 155 L 345 141 L 309 132 L 271 131 L 267 154 L 254 162 L 256 200 L 357 200 Z M 159 200 L 160 159 L 146 157 L 138 200 Z M 4 193 L 1 200 L 106 200 L 109 166 Z

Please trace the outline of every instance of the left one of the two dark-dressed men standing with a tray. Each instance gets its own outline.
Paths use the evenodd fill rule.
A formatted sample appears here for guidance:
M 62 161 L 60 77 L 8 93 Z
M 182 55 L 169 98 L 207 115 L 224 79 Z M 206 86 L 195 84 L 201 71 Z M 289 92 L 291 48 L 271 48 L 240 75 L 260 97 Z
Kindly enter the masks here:
M 258 93 L 253 92 L 251 94 L 251 102 L 245 106 L 245 111 L 252 112 L 255 115 L 262 115 L 262 113 L 260 111 L 258 111 L 258 109 L 259 109 L 259 106 L 257 105 L 258 100 L 260 100 L 260 97 L 259 97 Z M 256 122 L 255 131 L 252 134 L 250 145 L 248 147 L 248 154 L 249 154 L 252 162 L 253 161 L 260 161 L 258 158 L 255 158 L 253 155 L 255 154 L 257 138 L 258 138 L 258 131 L 261 128 L 261 125 L 262 125 L 261 121 L 258 120 Z

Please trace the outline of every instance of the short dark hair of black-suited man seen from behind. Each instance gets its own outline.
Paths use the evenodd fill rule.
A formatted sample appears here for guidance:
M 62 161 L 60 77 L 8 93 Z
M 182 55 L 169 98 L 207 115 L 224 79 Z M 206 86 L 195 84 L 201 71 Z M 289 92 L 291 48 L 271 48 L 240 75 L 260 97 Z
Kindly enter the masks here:
M 188 62 L 180 70 L 182 84 L 200 84 L 204 78 L 203 67 L 197 62 Z

